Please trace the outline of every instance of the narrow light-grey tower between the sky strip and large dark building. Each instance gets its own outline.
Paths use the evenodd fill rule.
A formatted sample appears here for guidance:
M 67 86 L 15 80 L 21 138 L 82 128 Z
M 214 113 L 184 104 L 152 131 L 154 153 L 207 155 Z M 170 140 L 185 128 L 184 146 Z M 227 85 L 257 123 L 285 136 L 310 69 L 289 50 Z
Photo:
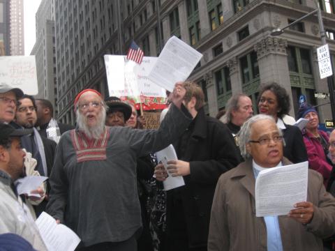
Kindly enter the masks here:
M 50 100 L 57 116 L 56 47 L 54 31 L 54 0 L 43 0 L 36 13 L 36 43 L 31 51 L 35 55 L 38 95 Z

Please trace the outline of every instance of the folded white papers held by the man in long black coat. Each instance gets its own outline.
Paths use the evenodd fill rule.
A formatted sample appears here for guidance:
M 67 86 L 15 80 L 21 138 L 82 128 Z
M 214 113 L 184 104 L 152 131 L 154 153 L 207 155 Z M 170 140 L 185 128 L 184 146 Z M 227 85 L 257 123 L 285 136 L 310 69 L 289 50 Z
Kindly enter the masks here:
M 156 153 L 158 162 L 162 162 L 165 167 L 166 172 L 168 172 L 168 161 L 169 160 L 178 160 L 176 151 L 172 144 L 166 147 L 165 149 L 158 151 Z M 168 178 L 163 181 L 164 190 L 168 191 L 173 188 L 179 188 L 181 185 L 185 185 L 183 176 L 172 177 L 168 172 Z

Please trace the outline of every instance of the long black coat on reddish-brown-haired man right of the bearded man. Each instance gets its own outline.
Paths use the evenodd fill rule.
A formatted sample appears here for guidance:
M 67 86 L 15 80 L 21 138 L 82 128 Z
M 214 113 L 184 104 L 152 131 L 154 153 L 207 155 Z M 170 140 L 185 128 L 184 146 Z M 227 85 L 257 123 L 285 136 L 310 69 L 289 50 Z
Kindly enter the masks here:
M 209 231 L 209 218 L 214 191 L 219 176 L 239 164 L 234 139 L 225 124 L 204 114 L 200 109 L 195 117 L 194 127 L 188 143 L 184 144 L 184 156 L 180 155 L 178 142 L 174 144 L 180 160 L 190 162 L 191 174 L 184 176 L 185 185 L 176 188 L 180 191 L 184 207 L 188 246 L 206 247 Z M 168 191 L 167 231 L 171 215 L 173 190 Z

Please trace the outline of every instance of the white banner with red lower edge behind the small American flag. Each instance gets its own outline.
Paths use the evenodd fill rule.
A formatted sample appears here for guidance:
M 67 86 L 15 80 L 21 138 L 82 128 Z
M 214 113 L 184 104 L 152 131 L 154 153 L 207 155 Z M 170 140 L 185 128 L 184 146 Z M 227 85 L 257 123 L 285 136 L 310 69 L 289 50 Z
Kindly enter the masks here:
M 126 56 L 105 55 L 104 59 L 110 96 L 136 104 L 136 109 L 140 109 L 140 102 L 145 110 L 166 107 L 165 89 L 147 77 L 156 57 L 144 56 L 140 65 Z

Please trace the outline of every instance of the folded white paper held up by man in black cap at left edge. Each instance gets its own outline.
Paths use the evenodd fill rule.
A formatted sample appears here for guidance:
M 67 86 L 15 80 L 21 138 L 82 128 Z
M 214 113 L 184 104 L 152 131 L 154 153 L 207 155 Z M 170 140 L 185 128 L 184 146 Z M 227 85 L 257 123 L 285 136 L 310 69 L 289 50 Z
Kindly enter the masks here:
M 32 190 L 36 190 L 47 179 L 45 176 L 25 176 L 15 181 L 17 193 L 19 195 L 27 194 L 28 196 L 40 197 L 38 194 L 31 194 Z

